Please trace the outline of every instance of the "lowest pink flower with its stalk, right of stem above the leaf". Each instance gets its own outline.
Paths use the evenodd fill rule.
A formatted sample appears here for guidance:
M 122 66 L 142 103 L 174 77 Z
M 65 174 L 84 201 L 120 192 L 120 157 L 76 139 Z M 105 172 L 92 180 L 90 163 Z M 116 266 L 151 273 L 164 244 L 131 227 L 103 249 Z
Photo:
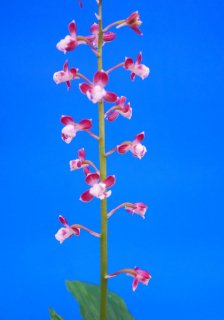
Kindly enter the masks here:
M 105 279 L 113 278 L 122 273 L 126 273 L 127 275 L 134 277 L 134 280 L 132 283 L 133 291 L 137 289 L 139 282 L 145 285 L 148 285 L 149 280 L 151 279 L 151 275 L 149 274 L 148 271 L 140 270 L 138 267 L 134 267 L 134 269 L 122 269 L 122 270 L 116 271 L 114 273 L 106 275 Z

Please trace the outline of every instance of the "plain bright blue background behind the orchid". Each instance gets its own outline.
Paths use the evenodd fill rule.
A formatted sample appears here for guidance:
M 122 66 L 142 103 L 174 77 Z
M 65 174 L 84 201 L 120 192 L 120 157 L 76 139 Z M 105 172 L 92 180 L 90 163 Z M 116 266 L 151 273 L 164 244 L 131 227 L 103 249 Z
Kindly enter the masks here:
M 2 320 L 47 320 L 52 306 L 65 320 L 80 319 L 64 280 L 98 283 L 99 242 L 82 232 L 60 245 L 58 214 L 99 231 L 99 201 L 78 199 L 88 186 L 68 162 L 85 147 L 96 163 L 97 142 L 78 133 L 60 137 L 61 114 L 93 119 L 97 106 L 73 81 L 56 86 L 52 74 L 66 58 L 92 78 L 87 46 L 66 56 L 56 43 L 75 19 L 78 34 L 96 21 L 94 0 L 10 1 L 1 4 L 1 299 Z M 142 50 L 151 69 L 144 81 L 111 74 L 108 90 L 125 95 L 133 118 L 106 124 L 107 150 L 145 131 L 148 152 L 108 159 L 117 183 L 109 209 L 143 201 L 146 219 L 120 210 L 109 221 L 109 272 L 138 265 L 152 274 L 131 290 L 119 276 L 109 287 L 137 320 L 224 319 L 223 310 L 223 13 L 219 0 L 105 1 L 104 25 L 139 10 L 144 37 L 129 28 L 104 47 L 104 67 Z

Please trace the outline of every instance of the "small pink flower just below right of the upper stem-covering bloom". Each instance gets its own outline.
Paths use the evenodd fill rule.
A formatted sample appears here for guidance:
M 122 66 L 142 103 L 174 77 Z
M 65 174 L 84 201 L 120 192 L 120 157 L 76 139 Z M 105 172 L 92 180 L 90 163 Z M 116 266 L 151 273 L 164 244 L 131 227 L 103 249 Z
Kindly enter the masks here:
M 130 103 L 125 103 L 126 97 L 121 96 L 120 98 L 117 98 L 116 106 L 110 108 L 105 113 L 105 117 L 107 117 L 107 120 L 112 122 L 116 120 L 119 117 L 119 115 L 122 115 L 123 117 L 130 120 L 132 117 L 132 108 L 130 106 Z

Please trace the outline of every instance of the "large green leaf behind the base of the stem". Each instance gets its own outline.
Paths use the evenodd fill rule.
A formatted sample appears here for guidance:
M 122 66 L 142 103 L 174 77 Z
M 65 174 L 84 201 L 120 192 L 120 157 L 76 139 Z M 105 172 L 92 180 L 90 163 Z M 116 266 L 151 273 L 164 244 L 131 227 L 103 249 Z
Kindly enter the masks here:
M 80 281 L 66 281 L 68 291 L 80 305 L 84 320 L 99 320 L 100 288 L 95 284 Z M 114 292 L 107 295 L 107 320 L 134 320 L 125 302 Z

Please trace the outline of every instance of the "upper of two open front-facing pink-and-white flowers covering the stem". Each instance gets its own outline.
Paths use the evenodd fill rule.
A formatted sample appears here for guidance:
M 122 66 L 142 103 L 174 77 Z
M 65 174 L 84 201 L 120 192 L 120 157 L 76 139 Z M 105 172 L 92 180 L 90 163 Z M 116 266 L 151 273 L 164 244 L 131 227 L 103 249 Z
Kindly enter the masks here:
M 104 89 L 108 80 L 106 72 L 103 70 L 97 71 L 94 75 L 93 83 L 81 83 L 79 89 L 83 94 L 86 94 L 87 98 L 93 103 L 97 103 L 103 99 L 108 102 L 115 102 L 117 95 Z

